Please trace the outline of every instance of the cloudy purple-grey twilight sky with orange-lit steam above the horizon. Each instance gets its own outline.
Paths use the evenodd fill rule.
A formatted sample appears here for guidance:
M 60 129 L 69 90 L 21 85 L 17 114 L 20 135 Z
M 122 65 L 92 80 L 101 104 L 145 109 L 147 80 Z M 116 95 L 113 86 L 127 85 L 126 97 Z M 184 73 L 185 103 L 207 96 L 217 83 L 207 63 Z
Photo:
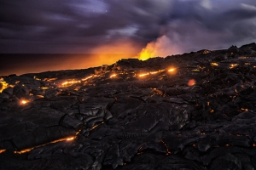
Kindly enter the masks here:
M 166 56 L 250 42 L 255 0 L 0 2 L 0 54 L 138 54 L 148 44 Z

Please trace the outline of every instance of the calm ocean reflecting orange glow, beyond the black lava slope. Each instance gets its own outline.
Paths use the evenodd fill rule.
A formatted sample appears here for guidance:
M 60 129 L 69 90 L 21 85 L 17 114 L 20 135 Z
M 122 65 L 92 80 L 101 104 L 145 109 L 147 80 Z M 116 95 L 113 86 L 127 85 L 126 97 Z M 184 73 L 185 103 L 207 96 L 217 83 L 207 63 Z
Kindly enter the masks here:
M 0 54 L 0 76 L 112 65 L 136 54 Z

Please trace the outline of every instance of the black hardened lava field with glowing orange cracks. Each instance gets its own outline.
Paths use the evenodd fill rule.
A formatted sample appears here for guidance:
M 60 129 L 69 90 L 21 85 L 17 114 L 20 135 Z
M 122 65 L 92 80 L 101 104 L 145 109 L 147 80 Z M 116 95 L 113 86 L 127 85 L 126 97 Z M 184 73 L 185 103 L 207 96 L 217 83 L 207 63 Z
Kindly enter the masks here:
M 10 75 L 0 90 L 0 169 L 256 168 L 255 43 Z

